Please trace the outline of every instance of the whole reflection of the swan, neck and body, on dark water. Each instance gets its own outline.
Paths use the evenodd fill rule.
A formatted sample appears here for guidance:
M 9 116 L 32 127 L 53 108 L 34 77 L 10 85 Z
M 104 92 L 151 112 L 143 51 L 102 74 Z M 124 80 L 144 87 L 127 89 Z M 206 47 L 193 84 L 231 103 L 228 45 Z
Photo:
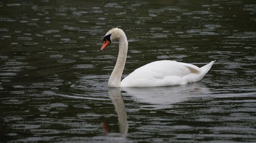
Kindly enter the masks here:
M 202 82 L 190 83 L 181 86 L 172 87 L 123 87 L 108 88 L 108 92 L 115 106 L 115 112 L 118 114 L 119 134 L 114 135 L 114 141 L 127 142 L 128 122 L 124 101 L 121 97 L 121 89 L 126 93 L 125 96 L 131 96 L 133 100 L 150 103 L 151 107 L 158 109 L 167 108 L 176 102 L 181 102 L 190 97 L 209 95 L 210 91 Z M 141 106 L 142 107 L 142 106 Z M 150 108 L 152 109 L 152 108 Z

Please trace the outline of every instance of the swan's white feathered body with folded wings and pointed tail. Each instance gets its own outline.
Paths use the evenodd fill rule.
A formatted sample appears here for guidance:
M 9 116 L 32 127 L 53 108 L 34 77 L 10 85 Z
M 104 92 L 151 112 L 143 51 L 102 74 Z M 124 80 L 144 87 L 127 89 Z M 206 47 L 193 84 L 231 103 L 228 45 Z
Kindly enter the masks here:
M 122 87 L 157 87 L 184 85 L 201 80 L 214 61 L 199 68 L 176 61 L 156 61 L 146 64 L 121 81 Z

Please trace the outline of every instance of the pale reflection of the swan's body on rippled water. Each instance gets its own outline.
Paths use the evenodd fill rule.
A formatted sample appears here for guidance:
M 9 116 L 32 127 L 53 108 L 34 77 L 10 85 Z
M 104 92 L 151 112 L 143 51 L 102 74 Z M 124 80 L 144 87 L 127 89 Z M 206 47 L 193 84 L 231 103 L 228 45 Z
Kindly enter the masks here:
M 124 95 L 131 95 L 133 100 L 150 103 L 157 108 L 166 108 L 172 103 L 210 93 L 209 88 L 202 82 L 171 87 L 122 87 L 122 90 L 126 92 Z

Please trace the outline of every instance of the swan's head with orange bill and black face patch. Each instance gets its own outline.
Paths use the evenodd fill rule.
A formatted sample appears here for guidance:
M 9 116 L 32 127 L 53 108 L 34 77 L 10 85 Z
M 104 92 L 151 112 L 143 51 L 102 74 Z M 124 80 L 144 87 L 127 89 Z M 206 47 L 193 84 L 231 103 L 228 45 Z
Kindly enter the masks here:
M 108 44 L 110 44 L 112 41 L 115 41 L 115 40 L 119 41 L 119 39 L 122 37 L 126 38 L 125 33 L 122 29 L 113 28 L 109 30 L 105 35 L 105 37 L 103 38 L 104 43 L 100 50 L 105 49 L 108 46 Z

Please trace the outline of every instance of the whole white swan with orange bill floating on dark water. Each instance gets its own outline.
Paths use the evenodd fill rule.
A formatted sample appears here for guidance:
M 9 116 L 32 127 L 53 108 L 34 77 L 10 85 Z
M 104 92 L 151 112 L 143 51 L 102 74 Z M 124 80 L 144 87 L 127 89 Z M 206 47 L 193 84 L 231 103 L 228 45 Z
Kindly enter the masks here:
M 108 80 L 109 87 L 184 85 L 201 80 L 215 62 L 212 61 L 201 68 L 189 63 L 168 60 L 151 62 L 136 69 L 121 81 L 128 49 L 128 42 L 124 31 L 119 28 L 109 30 L 103 38 L 104 43 L 101 50 L 114 40 L 119 42 L 119 54 L 117 63 L 115 63 L 114 70 Z

